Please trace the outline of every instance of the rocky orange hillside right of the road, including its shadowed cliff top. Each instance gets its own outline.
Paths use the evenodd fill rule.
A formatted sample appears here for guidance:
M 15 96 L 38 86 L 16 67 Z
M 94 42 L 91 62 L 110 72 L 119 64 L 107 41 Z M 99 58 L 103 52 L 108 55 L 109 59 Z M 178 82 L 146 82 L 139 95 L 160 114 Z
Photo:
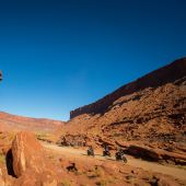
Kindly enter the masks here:
M 135 144 L 185 154 L 186 58 L 71 112 L 61 139 L 72 146 L 107 142 L 113 149 Z

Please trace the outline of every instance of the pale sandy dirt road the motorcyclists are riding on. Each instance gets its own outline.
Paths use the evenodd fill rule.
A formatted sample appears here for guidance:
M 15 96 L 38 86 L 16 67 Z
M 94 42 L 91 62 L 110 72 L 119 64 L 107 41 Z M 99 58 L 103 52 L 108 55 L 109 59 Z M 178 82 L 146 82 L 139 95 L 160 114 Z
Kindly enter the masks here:
M 73 155 L 73 156 L 83 156 L 83 155 L 86 156 L 85 150 L 68 148 L 68 147 L 58 147 L 58 146 L 48 144 L 48 143 L 42 143 L 42 144 L 45 148 L 50 149 L 50 150 L 56 151 L 56 152 L 61 153 L 61 154 L 66 154 L 66 155 L 69 154 L 69 155 Z M 146 171 L 151 171 L 151 172 L 171 175 L 171 176 L 174 176 L 176 178 L 186 181 L 186 170 L 177 168 L 177 167 L 173 167 L 173 166 L 167 166 L 167 165 L 161 165 L 161 164 L 158 164 L 158 163 L 148 162 L 148 161 L 143 161 L 143 160 L 140 160 L 140 159 L 135 159 L 130 155 L 126 155 L 126 158 L 128 160 L 128 162 L 127 162 L 128 165 L 131 165 L 131 166 L 135 166 L 135 167 L 141 167 Z M 102 156 L 101 153 L 95 154 L 94 159 L 105 160 L 105 161 L 115 160 L 114 156 L 106 159 L 106 158 Z

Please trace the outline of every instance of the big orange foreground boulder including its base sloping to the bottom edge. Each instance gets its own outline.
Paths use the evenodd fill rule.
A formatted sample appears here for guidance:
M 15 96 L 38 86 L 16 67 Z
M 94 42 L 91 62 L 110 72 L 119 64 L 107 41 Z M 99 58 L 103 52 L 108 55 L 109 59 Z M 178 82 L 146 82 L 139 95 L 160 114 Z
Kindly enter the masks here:
M 18 186 L 57 186 L 55 166 L 45 155 L 34 133 L 21 131 L 12 142 L 13 172 Z

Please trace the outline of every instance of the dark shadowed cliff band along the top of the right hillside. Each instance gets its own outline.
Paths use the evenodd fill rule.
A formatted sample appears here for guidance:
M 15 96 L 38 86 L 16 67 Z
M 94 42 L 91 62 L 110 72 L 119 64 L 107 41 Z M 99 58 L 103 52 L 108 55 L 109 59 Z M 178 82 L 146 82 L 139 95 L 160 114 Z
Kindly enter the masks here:
M 182 79 L 186 75 L 186 58 L 178 59 L 168 66 L 160 68 L 136 81 L 128 83 L 115 92 L 106 95 L 90 105 L 82 106 L 70 112 L 70 118 L 82 114 L 103 114 L 119 97 L 144 90 L 146 88 L 158 88 L 168 82 Z

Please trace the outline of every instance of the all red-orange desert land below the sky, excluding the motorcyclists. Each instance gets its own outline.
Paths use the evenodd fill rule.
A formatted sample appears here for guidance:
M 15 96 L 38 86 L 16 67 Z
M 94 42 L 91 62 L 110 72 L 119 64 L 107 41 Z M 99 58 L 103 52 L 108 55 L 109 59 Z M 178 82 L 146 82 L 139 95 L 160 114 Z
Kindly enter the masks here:
M 127 162 L 116 161 L 118 149 Z M 71 111 L 68 121 L 0 113 L 0 186 L 88 185 L 186 185 L 186 58 Z

